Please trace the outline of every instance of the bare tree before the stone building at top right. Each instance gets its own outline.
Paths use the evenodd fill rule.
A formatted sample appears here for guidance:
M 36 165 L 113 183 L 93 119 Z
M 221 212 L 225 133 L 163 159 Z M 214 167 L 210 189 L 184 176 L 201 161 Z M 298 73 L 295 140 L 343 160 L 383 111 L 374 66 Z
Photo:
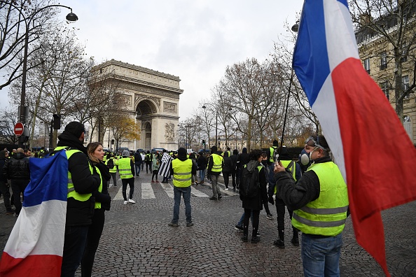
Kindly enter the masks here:
M 415 53 L 416 47 L 416 3 L 414 0 L 349 0 L 349 10 L 352 22 L 356 28 L 357 40 L 368 38 L 383 38 L 385 43 L 379 43 L 375 55 L 379 55 L 385 64 L 393 62 L 394 100 L 398 118 L 403 119 L 403 100 L 410 92 L 414 92 L 415 77 L 412 85 L 404 87 L 402 83 L 403 66 L 408 64 L 415 76 L 416 62 L 405 63 L 407 58 Z M 384 76 L 385 78 L 385 76 Z M 376 77 L 377 79 L 377 77 Z

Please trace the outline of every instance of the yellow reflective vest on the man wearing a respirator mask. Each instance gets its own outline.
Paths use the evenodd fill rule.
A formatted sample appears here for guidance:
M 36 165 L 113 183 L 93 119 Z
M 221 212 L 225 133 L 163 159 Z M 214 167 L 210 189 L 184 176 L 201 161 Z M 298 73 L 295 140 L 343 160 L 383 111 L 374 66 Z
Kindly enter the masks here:
M 312 164 L 307 169 L 310 170 L 319 178 L 319 197 L 293 211 L 292 225 L 305 234 L 336 236 L 344 229 L 347 219 L 347 185 L 333 162 Z

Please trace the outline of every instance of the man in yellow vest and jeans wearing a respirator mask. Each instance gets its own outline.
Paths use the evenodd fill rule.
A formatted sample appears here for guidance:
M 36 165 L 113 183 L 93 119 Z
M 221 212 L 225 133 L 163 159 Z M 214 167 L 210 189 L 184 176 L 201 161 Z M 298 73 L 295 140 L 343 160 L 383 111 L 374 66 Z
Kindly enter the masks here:
M 303 273 L 308 276 L 340 276 L 342 230 L 348 215 L 347 185 L 329 156 L 324 136 L 307 144 L 312 164 L 295 185 L 282 162 L 275 166 L 277 191 L 293 211 L 292 225 L 302 232 Z M 317 251 L 316 249 L 319 249 Z

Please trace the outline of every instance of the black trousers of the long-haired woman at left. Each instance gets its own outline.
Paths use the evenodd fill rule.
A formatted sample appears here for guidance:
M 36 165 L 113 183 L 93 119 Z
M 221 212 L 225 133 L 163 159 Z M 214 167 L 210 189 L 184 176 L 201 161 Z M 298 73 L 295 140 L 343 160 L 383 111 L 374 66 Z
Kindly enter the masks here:
M 87 242 L 85 243 L 84 255 L 81 260 L 82 277 L 91 276 L 92 264 L 94 264 L 95 253 L 97 252 L 99 239 L 104 228 L 104 221 L 104 208 L 96 208 L 92 217 L 92 225 L 88 228 Z

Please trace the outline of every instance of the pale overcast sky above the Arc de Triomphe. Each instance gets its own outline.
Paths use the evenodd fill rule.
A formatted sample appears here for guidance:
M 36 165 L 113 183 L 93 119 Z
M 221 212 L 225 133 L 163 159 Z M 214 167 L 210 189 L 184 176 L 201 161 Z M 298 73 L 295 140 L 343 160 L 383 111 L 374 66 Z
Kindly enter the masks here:
M 116 59 L 179 76 L 179 120 L 209 98 L 226 66 L 263 61 L 273 42 L 296 22 L 303 0 L 60 0 L 97 63 Z M 62 9 L 62 17 L 68 11 Z M 0 90 L 5 99 L 6 90 Z M 1 106 L 5 106 L 1 101 Z

